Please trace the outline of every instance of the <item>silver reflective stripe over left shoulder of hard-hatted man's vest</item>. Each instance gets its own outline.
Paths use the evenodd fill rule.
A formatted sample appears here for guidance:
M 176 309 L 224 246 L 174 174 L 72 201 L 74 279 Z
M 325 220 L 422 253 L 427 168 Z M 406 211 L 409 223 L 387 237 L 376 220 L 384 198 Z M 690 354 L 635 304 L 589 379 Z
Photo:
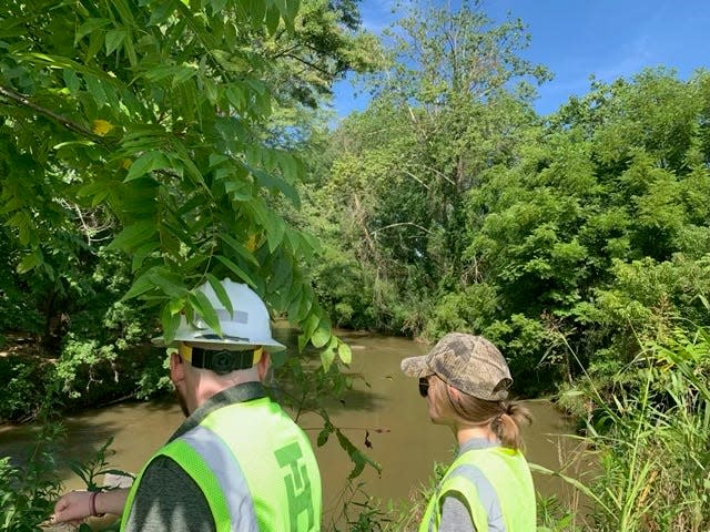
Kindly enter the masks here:
M 246 478 L 229 447 L 212 430 L 197 426 L 180 437 L 192 447 L 207 467 L 222 488 L 230 509 L 233 531 L 258 532 L 252 494 Z M 210 494 L 205 493 L 205 498 Z

